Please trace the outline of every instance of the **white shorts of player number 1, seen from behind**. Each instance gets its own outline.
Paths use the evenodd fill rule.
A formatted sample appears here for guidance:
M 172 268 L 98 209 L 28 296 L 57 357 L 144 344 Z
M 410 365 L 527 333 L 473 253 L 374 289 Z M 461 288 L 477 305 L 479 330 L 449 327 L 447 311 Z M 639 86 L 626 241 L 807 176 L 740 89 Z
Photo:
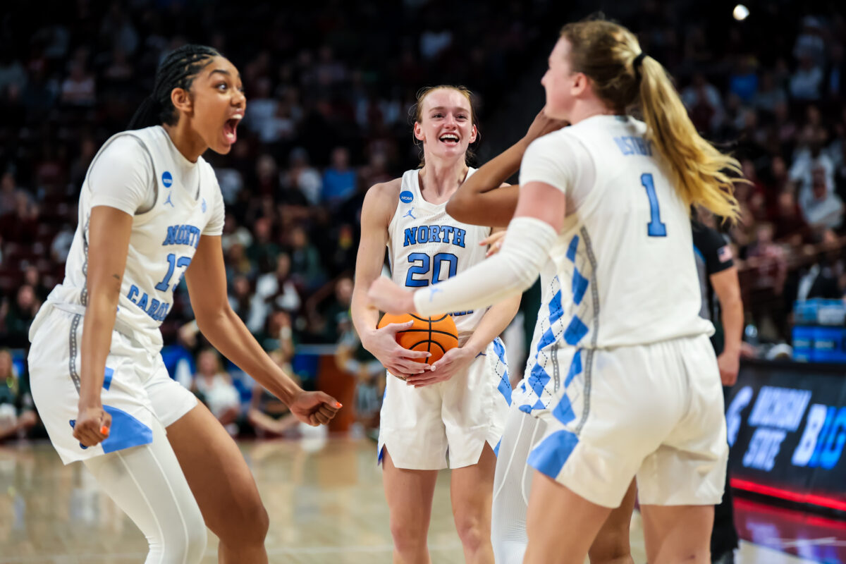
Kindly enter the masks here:
M 547 429 L 529 465 L 604 507 L 635 475 L 642 505 L 719 503 L 728 443 L 708 337 L 573 353 L 580 375 L 533 412 Z

